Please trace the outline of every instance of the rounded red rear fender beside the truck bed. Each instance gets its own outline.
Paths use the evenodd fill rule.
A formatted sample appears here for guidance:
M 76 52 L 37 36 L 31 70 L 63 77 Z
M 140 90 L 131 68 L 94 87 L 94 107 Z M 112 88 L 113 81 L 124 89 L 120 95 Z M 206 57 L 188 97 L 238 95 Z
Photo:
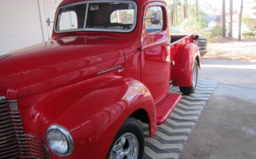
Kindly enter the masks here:
M 192 71 L 196 59 L 200 66 L 200 53 L 196 44 L 186 44 L 176 50 L 172 80 L 174 86 L 192 86 Z

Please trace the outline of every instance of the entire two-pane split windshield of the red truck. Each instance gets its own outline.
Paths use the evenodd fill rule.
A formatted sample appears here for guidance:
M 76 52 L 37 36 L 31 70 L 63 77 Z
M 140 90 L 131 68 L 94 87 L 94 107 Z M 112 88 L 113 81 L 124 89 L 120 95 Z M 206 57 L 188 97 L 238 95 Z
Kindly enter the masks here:
M 136 26 L 136 15 L 137 5 L 134 1 L 73 3 L 58 10 L 55 32 L 131 32 Z

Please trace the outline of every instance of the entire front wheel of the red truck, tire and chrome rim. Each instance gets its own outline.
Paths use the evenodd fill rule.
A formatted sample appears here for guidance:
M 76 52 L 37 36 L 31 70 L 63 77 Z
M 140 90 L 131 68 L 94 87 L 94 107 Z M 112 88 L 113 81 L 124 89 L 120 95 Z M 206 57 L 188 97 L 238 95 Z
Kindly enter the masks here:
M 128 118 L 113 140 L 107 159 L 140 159 L 143 153 L 143 129 L 136 119 Z

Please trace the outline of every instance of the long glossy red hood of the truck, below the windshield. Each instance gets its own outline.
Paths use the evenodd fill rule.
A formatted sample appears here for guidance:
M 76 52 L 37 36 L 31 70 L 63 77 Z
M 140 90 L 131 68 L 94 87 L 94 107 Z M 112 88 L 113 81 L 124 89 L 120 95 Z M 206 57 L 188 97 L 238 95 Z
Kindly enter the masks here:
M 17 99 L 60 88 L 124 66 L 125 40 L 112 36 L 60 37 L 0 59 L 0 96 Z

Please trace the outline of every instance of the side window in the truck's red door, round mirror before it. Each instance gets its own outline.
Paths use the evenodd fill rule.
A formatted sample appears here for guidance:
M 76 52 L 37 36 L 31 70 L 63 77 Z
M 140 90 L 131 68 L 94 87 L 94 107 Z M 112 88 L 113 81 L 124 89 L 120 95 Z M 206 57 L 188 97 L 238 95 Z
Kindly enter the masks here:
M 154 6 L 147 9 L 145 27 L 147 32 L 158 32 L 163 30 L 163 8 Z

